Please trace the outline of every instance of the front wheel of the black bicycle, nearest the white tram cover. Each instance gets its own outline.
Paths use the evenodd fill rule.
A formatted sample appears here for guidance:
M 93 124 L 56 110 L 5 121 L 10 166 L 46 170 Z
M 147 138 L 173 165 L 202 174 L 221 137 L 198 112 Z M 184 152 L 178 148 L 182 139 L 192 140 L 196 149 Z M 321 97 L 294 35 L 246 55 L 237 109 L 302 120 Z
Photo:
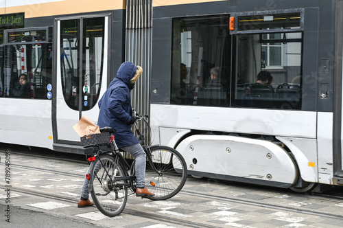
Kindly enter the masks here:
M 156 146 L 148 149 L 151 161 L 149 159 L 147 161 L 145 187 L 155 194 L 150 199 L 162 201 L 175 196 L 186 183 L 185 159 L 177 150 L 168 146 Z

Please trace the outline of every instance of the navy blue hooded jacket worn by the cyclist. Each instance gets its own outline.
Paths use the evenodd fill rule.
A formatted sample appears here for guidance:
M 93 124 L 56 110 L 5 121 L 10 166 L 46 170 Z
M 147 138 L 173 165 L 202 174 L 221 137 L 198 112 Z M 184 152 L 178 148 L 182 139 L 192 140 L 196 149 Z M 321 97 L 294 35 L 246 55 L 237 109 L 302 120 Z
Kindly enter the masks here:
M 99 100 L 97 125 L 100 128 L 110 126 L 116 130 L 115 142 L 119 148 L 139 144 L 129 124 L 132 113 L 130 91 L 134 88 L 130 80 L 136 70 L 137 67 L 132 62 L 123 62 L 117 76 Z

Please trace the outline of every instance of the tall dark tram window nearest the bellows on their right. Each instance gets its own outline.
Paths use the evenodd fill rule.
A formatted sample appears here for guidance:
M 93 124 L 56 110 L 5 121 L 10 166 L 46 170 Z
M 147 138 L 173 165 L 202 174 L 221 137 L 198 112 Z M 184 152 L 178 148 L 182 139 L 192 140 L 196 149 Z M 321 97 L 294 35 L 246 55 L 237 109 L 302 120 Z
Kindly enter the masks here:
M 173 19 L 171 104 L 228 106 L 228 27 L 228 15 Z

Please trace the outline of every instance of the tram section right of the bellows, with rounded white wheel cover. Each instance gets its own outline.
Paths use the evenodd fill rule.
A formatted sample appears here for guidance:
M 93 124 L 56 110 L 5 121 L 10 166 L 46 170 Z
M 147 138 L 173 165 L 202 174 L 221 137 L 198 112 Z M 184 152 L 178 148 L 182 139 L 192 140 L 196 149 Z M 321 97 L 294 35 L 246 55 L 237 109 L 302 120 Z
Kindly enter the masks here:
M 156 143 L 193 176 L 342 185 L 343 2 L 182 3 L 154 4 Z

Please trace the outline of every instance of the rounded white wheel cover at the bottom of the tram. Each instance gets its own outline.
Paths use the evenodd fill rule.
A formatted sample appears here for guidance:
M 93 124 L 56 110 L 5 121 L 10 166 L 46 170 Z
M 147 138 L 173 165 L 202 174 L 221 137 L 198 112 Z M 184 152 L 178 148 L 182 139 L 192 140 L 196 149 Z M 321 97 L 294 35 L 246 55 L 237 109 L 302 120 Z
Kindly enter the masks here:
M 229 135 L 193 135 L 176 148 L 185 158 L 189 171 L 235 176 L 263 181 L 264 185 L 279 183 L 290 187 L 297 179 L 296 164 L 276 144 L 259 139 Z M 232 178 L 235 180 L 235 178 Z

